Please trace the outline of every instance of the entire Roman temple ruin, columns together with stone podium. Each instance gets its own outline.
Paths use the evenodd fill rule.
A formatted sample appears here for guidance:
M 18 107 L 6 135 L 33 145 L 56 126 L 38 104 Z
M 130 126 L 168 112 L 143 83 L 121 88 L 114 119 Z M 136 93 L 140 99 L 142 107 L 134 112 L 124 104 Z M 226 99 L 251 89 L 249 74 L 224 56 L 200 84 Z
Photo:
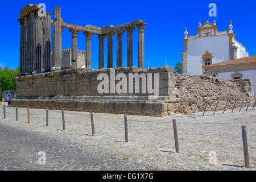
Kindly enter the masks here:
M 233 106 L 232 101 L 237 100 L 237 104 L 241 104 L 242 100 L 253 101 L 253 93 L 248 89 L 252 85 L 249 78 L 221 80 L 205 75 L 181 75 L 174 73 L 174 68 L 166 66 L 144 69 L 146 24 L 142 20 L 120 26 L 81 27 L 65 23 L 60 12 L 60 7 L 55 7 L 52 20 L 51 14 L 44 13 L 39 5 L 29 4 L 20 10 L 20 76 L 15 78 L 17 96 L 11 106 L 164 116 L 174 114 L 174 109 L 176 113 L 192 113 L 192 103 L 195 111 L 202 111 L 205 104 L 212 110 L 216 102 L 220 102 L 217 108 L 220 110 L 227 100 L 229 103 L 226 106 L 229 109 Z M 61 48 L 63 28 L 69 28 L 72 35 L 72 48 L 64 51 Z M 133 67 L 135 28 L 139 32 L 138 68 Z M 85 52 L 77 50 L 79 31 L 85 35 Z M 125 31 L 127 67 L 123 67 L 122 61 L 122 36 Z M 98 35 L 99 69 L 91 69 L 92 34 Z M 117 67 L 113 68 L 115 34 Z M 108 65 L 104 68 L 106 37 Z M 67 61 L 67 57 L 70 61 Z M 85 68 L 80 68 L 81 64 Z M 105 82 L 103 87 L 100 86 L 102 80 Z

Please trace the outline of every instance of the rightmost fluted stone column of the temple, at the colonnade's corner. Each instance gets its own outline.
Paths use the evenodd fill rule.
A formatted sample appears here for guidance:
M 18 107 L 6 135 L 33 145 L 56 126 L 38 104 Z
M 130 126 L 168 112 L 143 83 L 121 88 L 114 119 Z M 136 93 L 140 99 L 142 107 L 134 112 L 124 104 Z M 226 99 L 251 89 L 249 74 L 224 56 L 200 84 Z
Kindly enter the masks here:
M 146 23 L 139 23 L 139 43 L 138 43 L 138 68 L 144 69 L 144 30 Z

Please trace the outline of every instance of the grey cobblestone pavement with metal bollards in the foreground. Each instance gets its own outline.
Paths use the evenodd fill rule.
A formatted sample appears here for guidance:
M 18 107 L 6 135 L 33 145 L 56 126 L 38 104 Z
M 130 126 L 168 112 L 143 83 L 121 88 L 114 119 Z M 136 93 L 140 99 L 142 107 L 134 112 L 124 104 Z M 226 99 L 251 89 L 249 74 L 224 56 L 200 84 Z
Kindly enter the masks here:
M 238 109 L 168 117 L 128 115 L 129 142 L 125 143 L 123 115 L 94 113 L 96 137 L 92 137 L 90 113 L 0 106 L 0 170 L 255 170 L 256 109 Z M 172 119 L 177 119 L 180 153 L 175 153 Z M 250 169 L 243 166 L 241 125 L 246 125 Z M 46 152 L 46 164 L 38 164 L 38 152 Z M 217 164 L 209 164 L 215 151 Z

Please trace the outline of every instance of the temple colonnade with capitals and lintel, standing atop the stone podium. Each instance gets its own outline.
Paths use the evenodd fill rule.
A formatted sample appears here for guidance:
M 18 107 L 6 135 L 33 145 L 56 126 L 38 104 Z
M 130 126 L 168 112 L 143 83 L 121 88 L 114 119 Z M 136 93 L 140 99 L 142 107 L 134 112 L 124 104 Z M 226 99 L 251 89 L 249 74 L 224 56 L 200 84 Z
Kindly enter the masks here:
M 68 68 L 78 68 L 77 64 L 77 34 L 83 32 L 86 39 L 85 68 L 91 68 L 91 38 L 92 34 L 98 35 L 99 52 L 98 68 L 104 68 L 104 39 L 108 38 L 108 65 L 113 68 L 113 36 L 117 35 L 117 67 L 123 67 L 123 33 L 127 32 L 127 67 L 133 67 L 133 32 L 137 27 L 138 37 L 138 67 L 144 69 L 144 28 L 147 25 L 143 20 L 135 20 L 119 26 L 96 27 L 87 25 L 85 27 L 65 23 L 61 18 L 61 8 L 51 13 L 45 12 L 39 5 L 23 7 L 20 10 L 20 76 L 32 73 L 57 71 Z M 51 35 L 53 26 L 53 35 Z M 62 32 L 63 28 L 69 28 L 72 35 L 71 64 L 62 61 Z M 53 42 L 51 42 L 53 36 Z M 52 46 L 52 56 L 51 56 Z M 52 59 L 51 59 L 52 57 Z

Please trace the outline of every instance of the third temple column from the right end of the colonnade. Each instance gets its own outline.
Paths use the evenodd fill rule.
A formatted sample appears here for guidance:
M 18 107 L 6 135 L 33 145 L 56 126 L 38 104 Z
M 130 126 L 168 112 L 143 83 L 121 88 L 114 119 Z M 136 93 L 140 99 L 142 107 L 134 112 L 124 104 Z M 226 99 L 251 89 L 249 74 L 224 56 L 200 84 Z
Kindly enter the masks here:
M 123 67 L 123 32 L 125 30 L 120 29 L 117 31 L 117 68 Z

